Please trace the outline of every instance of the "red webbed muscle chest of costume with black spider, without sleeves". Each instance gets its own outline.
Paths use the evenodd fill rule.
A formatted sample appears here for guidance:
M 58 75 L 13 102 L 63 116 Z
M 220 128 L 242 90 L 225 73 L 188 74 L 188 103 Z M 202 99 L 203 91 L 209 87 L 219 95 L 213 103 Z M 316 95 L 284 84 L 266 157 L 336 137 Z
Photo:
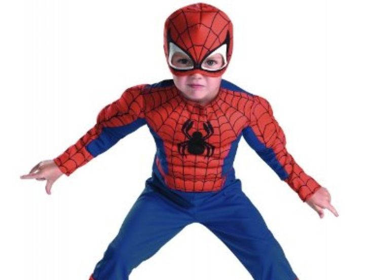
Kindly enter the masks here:
M 220 89 L 206 106 L 183 97 L 175 86 L 144 93 L 145 118 L 154 131 L 156 163 L 166 184 L 182 191 L 219 190 L 232 143 L 248 125 L 248 98 Z M 165 168 L 166 167 L 166 168 Z M 229 167 L 227 167 L 229 169 Z

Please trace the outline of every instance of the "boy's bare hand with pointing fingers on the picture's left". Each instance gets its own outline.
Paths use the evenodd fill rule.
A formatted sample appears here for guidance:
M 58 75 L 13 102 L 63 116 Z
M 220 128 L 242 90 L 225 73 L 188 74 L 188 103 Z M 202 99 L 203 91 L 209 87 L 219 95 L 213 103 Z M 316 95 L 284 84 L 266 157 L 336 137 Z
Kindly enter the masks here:
M 38 171 L 38 172 L 36 172 Z M 35 173 L 34 173 L 35 172 Z M 52 185 L 58 178 L 62 176 L 63 172 L 58 168 L 53 160 L 44 160 L 36 164 L 28 174 L 22 175 L 21 179 L 36 179 L 39 181 L 47 180 L 45 190 L 47 194 L 52 194 Z

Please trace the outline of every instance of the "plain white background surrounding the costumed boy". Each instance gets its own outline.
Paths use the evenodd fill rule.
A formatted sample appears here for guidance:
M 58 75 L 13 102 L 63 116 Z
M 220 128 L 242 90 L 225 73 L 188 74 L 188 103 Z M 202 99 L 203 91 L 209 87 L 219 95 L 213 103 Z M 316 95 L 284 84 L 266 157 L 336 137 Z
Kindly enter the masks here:
M 11 3 L 11 4 L 10 4 Z M 172 76 L 163 24 L 191 1 L 27 0 L 0 4 L 4 279 L 87 279 L 151 175 L 142 126 L 62 176 L 21 180 L 88 131 L 133 85 Z M 371 274 L 372 9 L 368 1 L 209 1 L 234 24 L 223 79 L 267 98 L 287 149 L 326 187 L 340 217 L 324 219 L 244 142 L 236 176 L 301 280 Z M 200 224 L 184 228 L 131 280 L 252 279 Z

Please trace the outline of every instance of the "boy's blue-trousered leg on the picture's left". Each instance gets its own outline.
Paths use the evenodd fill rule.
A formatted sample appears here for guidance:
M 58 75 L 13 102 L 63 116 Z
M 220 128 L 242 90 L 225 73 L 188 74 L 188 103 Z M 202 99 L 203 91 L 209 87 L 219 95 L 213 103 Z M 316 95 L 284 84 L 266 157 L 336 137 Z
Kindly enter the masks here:
M 133 268 L 192 222 L 187 212 L 146 186 L 90 280 L 128 280 Z

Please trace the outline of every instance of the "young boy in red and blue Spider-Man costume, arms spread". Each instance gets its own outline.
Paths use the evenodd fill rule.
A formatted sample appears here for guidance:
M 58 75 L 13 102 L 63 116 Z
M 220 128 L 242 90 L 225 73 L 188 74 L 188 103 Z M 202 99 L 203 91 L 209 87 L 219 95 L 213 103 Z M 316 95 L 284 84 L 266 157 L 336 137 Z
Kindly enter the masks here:
M 338 213 L 328 191 L 286 151 L 270 103 L 222 80 L 232 56 L 232 22 L 207 4 L 183 7 L 165 22 L 164 50 L 173 80 L 126 89 L 76 144 L 21 178 L 47 180 L 50 194 L 63 173 L 70 176 L 146 124 L 157 146 L 152 177 L 90 279 L 128 279 L 133 268 L 194 222 L 220 238 L 255 280 L 297 279 L 235 178 L 241 136 L 321 218 L 323 208 Z

